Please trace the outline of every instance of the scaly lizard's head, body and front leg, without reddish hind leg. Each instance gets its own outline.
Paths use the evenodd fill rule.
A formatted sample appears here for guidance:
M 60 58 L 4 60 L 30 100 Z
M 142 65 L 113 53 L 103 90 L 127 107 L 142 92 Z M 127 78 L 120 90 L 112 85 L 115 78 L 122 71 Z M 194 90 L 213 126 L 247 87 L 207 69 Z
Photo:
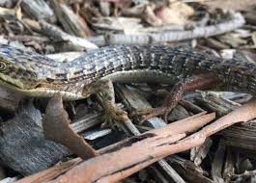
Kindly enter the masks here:
M 61 93 L 76 100 L 99 93 L 108 112 L 116 110 L 112 82 L 174 84 L 198 73 L 213 73 L 223 91 L 255 93 L 256 65 L 224 61 L 205 51 L 153 44 L 109 46 L 71 62 L 55 62 L 35 52 L 0 45 L 0 85 L 35 97 Z M 113 117 L 113 118 L 117 118 Z

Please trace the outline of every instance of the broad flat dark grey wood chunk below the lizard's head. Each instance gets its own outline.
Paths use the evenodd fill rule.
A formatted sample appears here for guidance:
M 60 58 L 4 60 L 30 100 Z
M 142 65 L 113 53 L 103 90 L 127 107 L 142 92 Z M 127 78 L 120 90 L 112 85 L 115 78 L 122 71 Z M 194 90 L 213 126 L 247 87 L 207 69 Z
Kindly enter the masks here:
M 69 154 L 63 145 L 45 141 L 42 115 L 31 103 L 0 130 L 0 159 L 21 174 L 45 170 Z

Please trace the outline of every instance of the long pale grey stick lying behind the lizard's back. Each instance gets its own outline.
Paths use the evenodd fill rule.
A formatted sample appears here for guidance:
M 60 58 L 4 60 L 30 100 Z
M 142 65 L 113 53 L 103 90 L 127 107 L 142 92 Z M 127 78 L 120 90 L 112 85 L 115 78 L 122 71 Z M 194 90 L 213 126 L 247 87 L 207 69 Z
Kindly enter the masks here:
M 166 32 L 159 34 L 147 35 L 107 35 L 105 37 L 92 37 L 88 40 L 95 42 L 97 45 L 110 44 L 150 44 L 155 42 L 179 41 L 185 39 L 208 38 L 220 35 L 229 31 L 233 31 L 244 24 L 244 19 L 241 13 L 230 13 L 231 19 L 216 25 L 206 27 L 197 27 L 188 31 Z

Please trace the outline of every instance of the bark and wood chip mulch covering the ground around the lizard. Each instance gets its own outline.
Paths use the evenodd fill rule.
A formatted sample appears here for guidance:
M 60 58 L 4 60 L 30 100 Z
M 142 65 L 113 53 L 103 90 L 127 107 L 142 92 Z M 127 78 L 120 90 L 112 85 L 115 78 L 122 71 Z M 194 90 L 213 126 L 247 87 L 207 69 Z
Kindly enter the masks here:
M 256 61 L 253 1 L 2 0 L 0 19 L 1 44 L 59 62 L 101 46 L 159 42 Z M 171 87 L 116 84 L 129 120 L 114 129 L 100 127 L 96 96 L 63 102 L 0 88 L 0 183 L 253 182 L 252 96 L 194 91 L 168 123 L 134 115 L 159 106 Z

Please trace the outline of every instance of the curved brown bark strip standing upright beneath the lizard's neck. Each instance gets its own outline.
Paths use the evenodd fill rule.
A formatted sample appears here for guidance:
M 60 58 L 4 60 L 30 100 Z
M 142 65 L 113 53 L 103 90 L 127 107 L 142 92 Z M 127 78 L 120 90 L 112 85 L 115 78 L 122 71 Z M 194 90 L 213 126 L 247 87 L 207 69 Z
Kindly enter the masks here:
M 46 139 L 55 143 L 67 146 L 77 156 L 84 160 L 97 155 L 97 152 L 90 144 L 78 136 L 70 126 L 71 120 L 68 113 L 63 108 L 60 94 L 53 96 L 46 107 L 43 118 L 43 134 Z M 60 133 L 56 133 L 61 129 Z

